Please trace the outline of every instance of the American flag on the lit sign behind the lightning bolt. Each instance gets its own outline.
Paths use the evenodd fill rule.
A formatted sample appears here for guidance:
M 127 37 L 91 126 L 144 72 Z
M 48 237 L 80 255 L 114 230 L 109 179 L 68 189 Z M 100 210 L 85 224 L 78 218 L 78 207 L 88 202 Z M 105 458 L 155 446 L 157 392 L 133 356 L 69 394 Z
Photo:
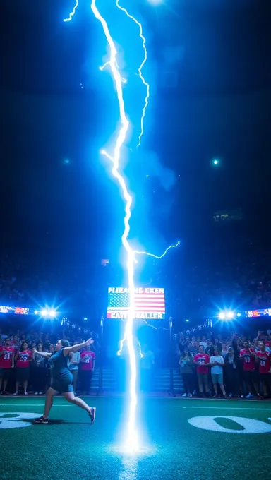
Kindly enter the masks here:
M 127 313 L 130 294 L 126 292 L 109 293 L 108 312 Z M 135 293 L 135 311 L 143 313 L 165 313 L 164 292 Z

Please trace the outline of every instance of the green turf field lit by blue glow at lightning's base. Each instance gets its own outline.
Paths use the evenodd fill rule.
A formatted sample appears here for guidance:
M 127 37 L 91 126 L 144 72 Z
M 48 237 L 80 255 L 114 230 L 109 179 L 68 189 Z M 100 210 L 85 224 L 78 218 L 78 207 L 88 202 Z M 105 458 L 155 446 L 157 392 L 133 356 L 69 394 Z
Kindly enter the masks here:
M 32 425 L 30 414 L 39 416 L 43 402 L 1 397 L 1 480 L 271 478 L 270 402 L 141 400 L 138 426 L 147 450 L 136 458 L 118 450 L 126 400 L 89 398 L 97 407 L 91 426 L 88 414 L 56 397 L 51 424 Z

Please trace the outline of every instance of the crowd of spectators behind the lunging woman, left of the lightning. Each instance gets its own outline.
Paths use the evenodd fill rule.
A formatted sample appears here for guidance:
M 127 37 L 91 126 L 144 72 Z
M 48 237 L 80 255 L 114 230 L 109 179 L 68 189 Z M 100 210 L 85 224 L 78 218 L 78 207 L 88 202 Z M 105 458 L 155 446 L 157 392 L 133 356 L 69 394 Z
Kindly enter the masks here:
M 71 344 L 82 343 L 83 339 L 76 337 L 73 332 L 62 330 L 59 332 L 43 333 L 31 330 L 10 330 L 8 334 L 0 331 L 0 392 L 8 395 L 42 395 L 51 383 L 50 359 L 47 360 L 37 352 L 54 353 L 59 337 L 68 340 Z M 90 347 L 80 352 L 71 353 L 68 367 L 73 373 L 73 388 L 89 395 L 91 390 L 92 373 L 95 371 L 96 358 L 100 355 L 100 344 L 97 334 L 92 332 L 95 339 Z M 20 390 L 21 388 L 21 390 Z

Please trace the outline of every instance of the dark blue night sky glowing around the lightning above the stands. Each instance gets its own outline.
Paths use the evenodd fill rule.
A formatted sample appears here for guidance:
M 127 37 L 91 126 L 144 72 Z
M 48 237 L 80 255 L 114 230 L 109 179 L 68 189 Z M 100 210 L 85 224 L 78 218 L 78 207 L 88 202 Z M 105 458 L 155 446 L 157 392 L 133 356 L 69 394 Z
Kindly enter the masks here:
M 98 155 L 116 124 L 114 90 L 106 73 L 97 77 L 106 51 L 86 3 L 63 23 L 73 1 L 1 2 L 5 248 L 65 245 L 101 258 L 119 246 L 121 200 Z M 143 148 L 126 168 L 135 219 L 147 215 L 147 233 L 133 235 L 153 245 L 155 222 L 161 246 L 199 229 L 204 236 L 212 212 L 238 207 L 244 224 L 266 235 L 260 222 L 270 211 L 270 1 L 167 3 L 162 15 L 138 2 L 151 39 L 154 93 Z M 124 40 L 128 48 L 131 39 Z M 127 102 L 132 112 L 138 97 Z M 152 169 L 146 179 L 153 153 L 175 172 L 171 191 Z M 210 167 L 212 157 L 221 158 L 219 169 Z

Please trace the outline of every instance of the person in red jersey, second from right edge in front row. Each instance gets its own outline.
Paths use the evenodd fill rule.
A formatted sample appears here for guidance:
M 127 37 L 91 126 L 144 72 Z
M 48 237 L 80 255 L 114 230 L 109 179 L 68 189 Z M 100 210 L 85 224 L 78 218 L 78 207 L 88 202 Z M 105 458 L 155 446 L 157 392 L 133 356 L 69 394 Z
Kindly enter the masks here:
M 243 349 L 240 350 L 240 359 L 243 361 L 243 380 L 246 384 L 248 395 L 246 398 L 252 398 L 252 385 L 254 385 L 257 397 L 260 398 L 258 376 L 255 364 L 255 351 L 253 348 L 249 348 L 248 342 L 243 342 Z

